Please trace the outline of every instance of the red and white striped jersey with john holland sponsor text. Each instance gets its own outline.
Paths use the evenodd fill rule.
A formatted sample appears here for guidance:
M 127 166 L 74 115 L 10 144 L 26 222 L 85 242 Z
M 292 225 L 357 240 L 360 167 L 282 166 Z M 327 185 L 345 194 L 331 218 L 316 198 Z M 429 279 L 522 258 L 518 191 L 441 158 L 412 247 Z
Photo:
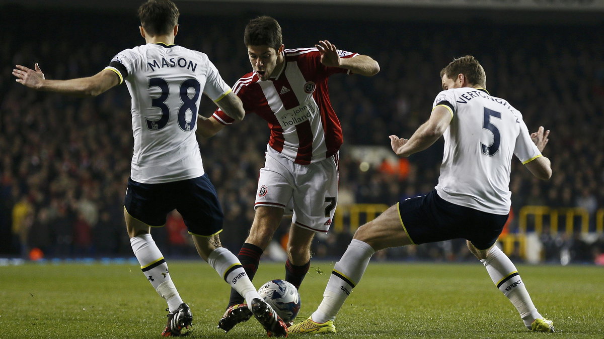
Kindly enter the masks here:
M 342 58 L 357 53 L 339 51 Z M 288 159 L 308 165 L 335 154 L 342 145 L 342 127 L 329 101 L 327 78 L 350 73 L 326 67 L 316 48 L 285 49 L 285 65 L 275 77 L 262 81 L 255 72 L 244 75 L 233 86 L 246 114 L 256 113 L 271 128 L 269 147 Z M 222 124 L 233 118 L 222 110 L 214 112 Z

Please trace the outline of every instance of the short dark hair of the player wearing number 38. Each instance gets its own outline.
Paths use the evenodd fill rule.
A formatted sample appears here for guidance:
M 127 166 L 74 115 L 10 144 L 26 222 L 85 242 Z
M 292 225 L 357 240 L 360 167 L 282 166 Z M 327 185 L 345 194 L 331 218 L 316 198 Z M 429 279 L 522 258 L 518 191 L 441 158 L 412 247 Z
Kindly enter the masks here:
M 170 0 L 148 0 L 138 7 L 138 19 L 150 36 L 169 34 L 178 24 L 178 8 Z

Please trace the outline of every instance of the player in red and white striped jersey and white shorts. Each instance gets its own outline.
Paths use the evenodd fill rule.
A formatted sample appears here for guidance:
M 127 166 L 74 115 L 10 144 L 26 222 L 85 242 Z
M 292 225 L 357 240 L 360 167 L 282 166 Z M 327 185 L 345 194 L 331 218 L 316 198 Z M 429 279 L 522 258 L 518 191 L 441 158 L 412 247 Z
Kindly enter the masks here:
M 329 41 L 315 48 L 285 49 L 281 27 L 272 17 L 253 19 L 245 28 L 252 72 L 234 92 L 245 113 L 255 113 L 271 130 L 266 163 L 260 170 L 255 217 L 239 260 L 250 279 L 283 215 L 291 214 L 285 280 L 300 287 L 310 265 L 315 232 L 326 233 L 338 202 L 338 150 L 342 128 L 329 101 L 327 80 L 336 73 L 370 77 L 379 65 L 367 55 L 341 51 Z M 233 122 L 222 109 L 204 121 L 213 135 Z M 234 291 L 219 327 L 229 331 L 250 314 Z

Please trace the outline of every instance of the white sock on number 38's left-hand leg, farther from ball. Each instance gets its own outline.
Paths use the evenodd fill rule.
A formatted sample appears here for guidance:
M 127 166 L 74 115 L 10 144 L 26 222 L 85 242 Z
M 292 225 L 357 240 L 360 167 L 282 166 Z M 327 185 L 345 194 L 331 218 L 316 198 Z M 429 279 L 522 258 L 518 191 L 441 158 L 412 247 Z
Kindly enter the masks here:
M 182 299 L 170 278 L 168 264 L 161 255 L 155 241 L 149 233 L 130 238 L 130 246 L 137 257 L 143 274 L 155 291 L 168 303 L 170 312 L 176 311 Z

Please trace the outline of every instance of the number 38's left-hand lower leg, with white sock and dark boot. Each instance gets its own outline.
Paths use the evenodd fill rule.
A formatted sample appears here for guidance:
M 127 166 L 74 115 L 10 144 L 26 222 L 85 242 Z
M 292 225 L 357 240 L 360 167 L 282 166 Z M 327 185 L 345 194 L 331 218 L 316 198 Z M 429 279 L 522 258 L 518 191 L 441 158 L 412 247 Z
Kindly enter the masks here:
M 186 303 L 178 294 L 164 256 L 159 251 L 150 235 L 150 226 L 133 218 L 124 209 L 126 230 L 130 236 L 130 246 L 137 257 L 143 274 L 149 280 L 155 291 L 168 303 L 168 322 L 162 336 L 180 335 L 183 328 L 189 328 L 193 315 Z

